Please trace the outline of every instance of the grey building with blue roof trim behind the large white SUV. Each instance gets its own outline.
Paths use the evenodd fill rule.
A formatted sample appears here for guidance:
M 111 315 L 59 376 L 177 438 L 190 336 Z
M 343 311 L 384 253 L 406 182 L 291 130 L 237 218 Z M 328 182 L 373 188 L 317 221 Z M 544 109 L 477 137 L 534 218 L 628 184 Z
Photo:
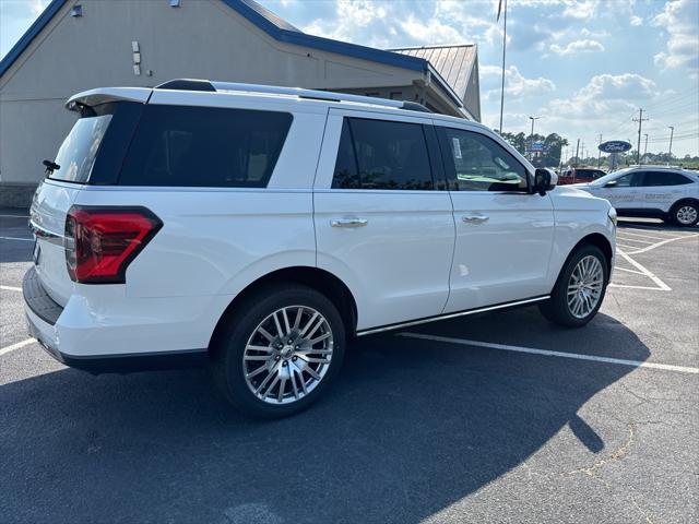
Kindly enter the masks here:
M 439 66 L 438 66 L 439 64 Z M 467 71 L 466 71 L 467 70 Z M 376 49 L 304 33 L 253 0 L 52 0 L 0 61 L 0 206 L 26 205 L 72 94 L 175 78 L 418 102 L 479 120 L 475 46 Z

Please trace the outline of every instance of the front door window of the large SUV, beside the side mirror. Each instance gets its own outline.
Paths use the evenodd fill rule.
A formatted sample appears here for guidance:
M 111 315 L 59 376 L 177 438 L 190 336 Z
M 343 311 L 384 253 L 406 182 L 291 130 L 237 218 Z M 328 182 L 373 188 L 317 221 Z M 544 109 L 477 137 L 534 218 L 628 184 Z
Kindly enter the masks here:
M 525 191 L 524 166 L 494 140 L 471 131 L 440 128 L 449 187 L 455 191 Z

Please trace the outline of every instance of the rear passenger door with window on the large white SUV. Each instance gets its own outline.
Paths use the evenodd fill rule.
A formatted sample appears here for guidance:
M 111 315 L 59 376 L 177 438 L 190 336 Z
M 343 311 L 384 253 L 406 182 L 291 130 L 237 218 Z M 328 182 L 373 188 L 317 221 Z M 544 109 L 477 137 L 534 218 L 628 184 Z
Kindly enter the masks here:
M 358 330 L 447 302 L 454 224 L 433 133 L 428 118 L 330 111 L 313 190 L 318 266 L 352 289 Z

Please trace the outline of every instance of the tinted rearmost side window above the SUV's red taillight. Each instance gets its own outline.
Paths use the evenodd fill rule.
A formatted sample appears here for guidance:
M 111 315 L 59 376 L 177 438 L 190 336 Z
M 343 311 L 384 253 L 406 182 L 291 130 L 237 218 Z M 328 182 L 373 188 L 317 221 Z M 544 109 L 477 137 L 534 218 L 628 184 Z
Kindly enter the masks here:
M 286 112 L 146 106 L 119 183 L 263 188 L 291 124 Z

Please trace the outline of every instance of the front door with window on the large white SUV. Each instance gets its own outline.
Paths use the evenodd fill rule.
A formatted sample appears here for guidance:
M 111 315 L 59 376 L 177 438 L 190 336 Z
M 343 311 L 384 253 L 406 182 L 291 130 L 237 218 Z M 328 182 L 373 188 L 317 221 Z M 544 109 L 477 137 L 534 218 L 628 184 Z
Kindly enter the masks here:
M 550 198 L 529 193 L 525 167 L 495 138 L 437 129 L 457 227 L 445 312 L 550 293 Z

